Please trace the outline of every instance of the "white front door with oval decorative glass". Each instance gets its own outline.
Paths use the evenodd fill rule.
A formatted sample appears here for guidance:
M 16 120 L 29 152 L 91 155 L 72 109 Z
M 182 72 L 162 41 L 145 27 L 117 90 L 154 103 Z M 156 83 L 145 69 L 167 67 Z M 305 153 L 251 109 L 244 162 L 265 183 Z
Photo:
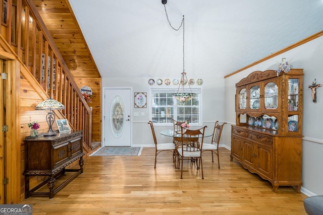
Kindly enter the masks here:
M 103 146 L 131 146 L 131 93 L 130 88 L 104 89 Z

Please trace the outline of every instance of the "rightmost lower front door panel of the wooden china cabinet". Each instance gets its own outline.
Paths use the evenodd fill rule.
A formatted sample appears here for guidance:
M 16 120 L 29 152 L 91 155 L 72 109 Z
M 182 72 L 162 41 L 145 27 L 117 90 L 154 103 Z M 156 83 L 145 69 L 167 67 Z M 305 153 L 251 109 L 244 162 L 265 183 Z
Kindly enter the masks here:
M 273 150 L 261 145 L 257 146 L 257 164 L 256 169 L 267 177 L 272 177 L 272 155 Z

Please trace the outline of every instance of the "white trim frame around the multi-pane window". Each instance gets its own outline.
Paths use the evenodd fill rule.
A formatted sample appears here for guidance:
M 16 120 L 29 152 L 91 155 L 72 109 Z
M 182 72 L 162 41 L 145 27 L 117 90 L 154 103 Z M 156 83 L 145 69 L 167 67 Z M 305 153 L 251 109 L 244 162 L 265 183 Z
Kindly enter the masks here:
M 174 88 L 165 88 L 165 87 L 158 87 L 158 86 L 151 86 L 149 87 L 149 95 L 148 95 L 148 115 L 149 115 L 149 120 L 152 119 L 152 93 L 154 92 L 160 92 L 163 91 L 163 93 L 176 93 L 178 90 L 178 87 L 174 86 Z M 191 90 L 193 93 L 198 93 L 199 94 L 199 108 L 200 108 L 200 114 L 199 114 L 199 123 L 190 123 L 192 126 L 201 126 L 202 119 L 203 119 L 203 90 L 202 87 L 191 87 Z M 189 91 L 189 89 L 186 89 L 185 92 Z M 154 123 L 156 126 L 173 126 L 173 123 Z

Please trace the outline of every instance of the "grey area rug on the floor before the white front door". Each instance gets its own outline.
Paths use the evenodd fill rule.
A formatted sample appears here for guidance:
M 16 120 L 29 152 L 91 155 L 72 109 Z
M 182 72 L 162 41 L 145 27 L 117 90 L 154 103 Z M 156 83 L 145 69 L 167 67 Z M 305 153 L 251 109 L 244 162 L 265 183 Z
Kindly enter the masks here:
M 142 147 L 103 147 L 91 156 L 140 156 Z

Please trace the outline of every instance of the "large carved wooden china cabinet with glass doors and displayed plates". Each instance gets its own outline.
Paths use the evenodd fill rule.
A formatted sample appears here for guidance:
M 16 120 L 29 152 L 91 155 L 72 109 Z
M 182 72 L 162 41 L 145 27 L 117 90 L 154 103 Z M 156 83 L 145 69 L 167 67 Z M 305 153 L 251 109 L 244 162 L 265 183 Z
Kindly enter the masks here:
M 303 69 L 254 71 L 236 84 L 231 161 L 279 186 L 302 186 Z

